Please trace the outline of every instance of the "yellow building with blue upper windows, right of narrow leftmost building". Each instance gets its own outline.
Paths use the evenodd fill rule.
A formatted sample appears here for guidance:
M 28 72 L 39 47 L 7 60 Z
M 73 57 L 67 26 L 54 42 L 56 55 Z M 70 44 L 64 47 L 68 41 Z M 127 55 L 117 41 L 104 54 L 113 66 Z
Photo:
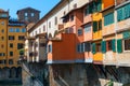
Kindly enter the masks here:
M 21 49 L 24 48 L 26 35 L 25 24 L 17 20 L 9 20 L 8 27 L 8 66 L 17 67 L 20 66 L 20 56 L 24 53 Z

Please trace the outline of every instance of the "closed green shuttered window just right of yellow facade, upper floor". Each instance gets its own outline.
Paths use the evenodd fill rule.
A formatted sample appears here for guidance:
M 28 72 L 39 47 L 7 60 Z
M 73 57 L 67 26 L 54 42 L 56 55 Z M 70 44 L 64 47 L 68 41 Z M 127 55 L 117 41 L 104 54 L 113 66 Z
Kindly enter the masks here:
M 104 26 L 110 25 L 114 23 L 114 12 L 108 13 L 104 16 Z

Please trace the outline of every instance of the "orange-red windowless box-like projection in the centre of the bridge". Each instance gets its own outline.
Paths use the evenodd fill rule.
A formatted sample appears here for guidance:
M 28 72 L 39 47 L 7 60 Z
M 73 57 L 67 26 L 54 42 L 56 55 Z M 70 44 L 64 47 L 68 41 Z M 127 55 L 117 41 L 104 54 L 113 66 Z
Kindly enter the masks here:
M 74 63 L 76 60 L 76 35 L 62 33 L 62 39 L 48 42 L 52 51 L 48 52 L 48 63 Z

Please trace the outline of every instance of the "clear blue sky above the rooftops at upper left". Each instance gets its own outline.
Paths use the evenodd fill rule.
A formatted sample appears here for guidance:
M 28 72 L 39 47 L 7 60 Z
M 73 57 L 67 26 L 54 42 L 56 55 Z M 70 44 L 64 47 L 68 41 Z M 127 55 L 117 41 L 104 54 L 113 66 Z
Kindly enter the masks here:
M 17 10 L 30 6 L 41 11 L 40 17 L 42 17 L 58 2 L 60 0 L 1 0 L 0 9 L 10 10 L 11 17 L 16 18 Z

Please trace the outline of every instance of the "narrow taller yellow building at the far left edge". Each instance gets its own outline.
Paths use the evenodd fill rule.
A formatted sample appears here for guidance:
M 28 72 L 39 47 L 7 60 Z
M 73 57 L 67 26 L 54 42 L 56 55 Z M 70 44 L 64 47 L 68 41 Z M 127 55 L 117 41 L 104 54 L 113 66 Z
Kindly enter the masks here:
M 9 22 L 9 12 L 0 10 L 0 67 L 6 66 L 8 60 L 8 22 Z

